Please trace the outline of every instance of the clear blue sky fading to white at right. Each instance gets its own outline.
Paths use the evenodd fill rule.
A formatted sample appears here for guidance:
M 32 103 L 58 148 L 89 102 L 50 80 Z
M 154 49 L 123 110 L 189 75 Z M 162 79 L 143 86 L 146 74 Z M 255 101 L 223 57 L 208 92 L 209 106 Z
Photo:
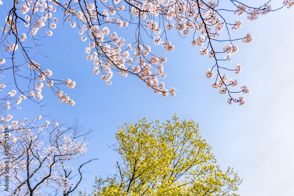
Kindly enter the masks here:
M 275 5 L 281 3 L 281 0 L 275 1 Z M 2 6 L 6 7 L 5 2 Z M 220 96 L 218 90 L 210 86 L 213 79 L 206 78 L 204 72 L 213 62 L 199 55 L 198 46 L 191 46 L 190 36 L 182 39 L 173 31 L 170 41 L 176 47 L 171 53 L 150 45 L 153 51 L 168 58 L 164 65 L 167 76 L 162 80 L 165 86 L 178 89 L 175 97 L 163 98 L 130 75 L 124 78 L 114 73 L 111 86 L 101 80 L 100 74 L 93 76 L 93 63 L 86 60 L 84 53 L 88 42 L 80 41 L 78 30 L 69 24 L 62 26 L 60 20 L 53 35 L 42 38 L 41 51 L 47 57 L 38 56 L 35 61 L 52 70 L 54 78 L 76 81 L 74 89 L 64 88 L 68 95 L 74 96 L 76 104 L 59 103 L 44 87 L 42 101 L 47 104 L 42 114 L 62 120 L 78 117 L 92 125 L 96 130 L 91 133 L 88 155 L 80 161 L 99 158 L 87 170 L 109 175 L 115 172 L 113 167 L 118 157 L 107 144 L 116 142 L 118 126 L 135 123 L 145 116 L 150 121 L 171 120 L 176 112 L 181 120 L 193 118 L 199 122 L 203 138 L 213 146 L 223 169 L 231 166 L 238 170 L 243 177 L 238 194 L 293 194 L 293 11 L 293 8 L 278 10 L 256 21 L 245 19 L 245 15 L 239 17 L 243 28 L 237 31 L 236 37 L 244 37 L 247 32 L 254 37 L 250 44 L 238 42 L 239 51 L 232 56 L 232 66 L 242 65 L 242 72 L 228 73 L 228 78 L 237 77 L 240 85 L 250 88 L 243 106 L 228 105 L 227 96 Z M 6 15 L 1 11 L 0 16 L 3 22 Z M 235 15 L 231 16 L 235 20 Z M 110 29 L 111 33 L 117 30 Z M 119 36 L 134 40 L 131 32 L 130 28 L 121 31 Z M 62 55 L 66 50 L 67 54 Z M 40 115 L 40 108 L 28 100 L 23 100 L 20 106 L 22 109 L 14 111 L 14 115 L 21 119 Z M 91 174 L 86 179 L 91 179 Z M 91 187 L 91 183 L 85 183 L 84 187 Z

